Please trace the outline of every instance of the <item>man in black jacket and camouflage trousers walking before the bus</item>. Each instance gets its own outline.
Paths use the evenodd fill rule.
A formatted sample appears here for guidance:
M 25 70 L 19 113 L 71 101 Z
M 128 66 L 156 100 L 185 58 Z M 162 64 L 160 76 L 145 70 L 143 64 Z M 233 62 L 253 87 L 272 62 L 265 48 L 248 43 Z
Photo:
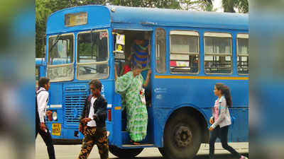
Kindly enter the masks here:
M 79 130 L 84 134 L 78 159 L 85 159 L 97 144 L 101 159 L 109 158 L 109 143 L 107 139 L 106 118 L 107 100 L 101 95 L 102 83 L 99 80 L 89 82 L 92 95 L 86 99 L 80 117 Z

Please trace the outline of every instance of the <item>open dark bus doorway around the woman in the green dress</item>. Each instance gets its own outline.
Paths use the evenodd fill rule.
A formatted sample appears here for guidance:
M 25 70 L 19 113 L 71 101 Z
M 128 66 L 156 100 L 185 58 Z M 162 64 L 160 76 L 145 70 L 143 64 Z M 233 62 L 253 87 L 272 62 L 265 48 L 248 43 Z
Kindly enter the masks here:
M 135 59 L 135 55 L 133 55 L 133 45 L 135 44 L 135 40 L 137 36 L 143 36 L 144 46 L 151 45 L 152 32 L 151 31 L 137 31 L 137 30 L 115 30 L 114 35 L 114 61 L 116 65 L 116 71 L 118 76 L 123 76 L 125 73 L 131 71 L 133 69 L 134 63 L 136 63 L 137 59 Z M 151 51 L 151 50 L 150 50 Z M 132 52 L 132 53 L 131 53 Z M 143 61 L 141 64 L 143 67 L 143 71 L 141 75 L 144 80 L 146 79 L 148 69 L 151 67 L 151 56 L 148 55 L 147 61 Z M 148 128 L 147 128 L 147 136 L 141 144 L 143 145 L 152 145 L 153 143 L 153 120 L 151 120 L 151 81 L 148 83 L 148 87 L 145 89 L 146 95 L 146 105 L 148 110 Z M 127 114 L 126 108 L 121 111 L 121 137 L 122 137 L 122 145 L 127 146 L 130 143 L 129 132 L 126 131 L 126 121 Z

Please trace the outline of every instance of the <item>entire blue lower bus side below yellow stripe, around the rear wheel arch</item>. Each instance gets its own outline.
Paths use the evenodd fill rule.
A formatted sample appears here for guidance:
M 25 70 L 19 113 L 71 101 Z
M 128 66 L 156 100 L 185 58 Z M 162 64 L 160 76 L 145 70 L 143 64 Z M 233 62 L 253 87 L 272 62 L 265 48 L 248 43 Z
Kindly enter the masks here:
M 154 78 L 153 80 L 153 107 L 155 115 L 155 145 L 163 145 L 163 129 L 167 122 L 167 115 L 173 107 L 178 105 L 193 105 L 204 110 L 206 120 L 212 116 L 212 107 L 217 99 L 213 90 L 215 83 L 224 83 L 231 89 L 233 110 L 236 113 L 234 126 L 240 131 L 234 132 L 231 138 L 234 141 L 248 141 L 248 116 L 249 105 L 248 81 L 240 80 L 216 80 L 216 79 L 177 79 Z M 244 111 L 245 110 L 245 111 Z M 235 129 L 235 128 L 234 128 Z M 160 138 L 160 139 L 156 139 Z

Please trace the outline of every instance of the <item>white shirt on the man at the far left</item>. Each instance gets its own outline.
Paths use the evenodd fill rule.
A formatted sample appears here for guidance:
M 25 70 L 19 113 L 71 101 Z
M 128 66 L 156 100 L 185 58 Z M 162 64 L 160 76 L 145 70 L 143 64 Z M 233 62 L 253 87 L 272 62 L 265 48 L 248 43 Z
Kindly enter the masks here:
M 45 88 L 40 87 L 40 89 L 36 92 L 38 93 L 38 115 L 40 117 L 40 122 L 45 122 L 45 112 L 46 107 L 48 106 L 48 91 L 45 90 Z

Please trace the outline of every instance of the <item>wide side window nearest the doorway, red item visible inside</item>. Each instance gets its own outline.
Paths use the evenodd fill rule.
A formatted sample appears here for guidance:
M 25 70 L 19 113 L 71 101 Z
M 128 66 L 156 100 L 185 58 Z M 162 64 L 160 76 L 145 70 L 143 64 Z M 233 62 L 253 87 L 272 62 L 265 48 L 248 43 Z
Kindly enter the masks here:
M 198 73 L 199 34 L 194 31 L 170 31 L 170 72 Z

